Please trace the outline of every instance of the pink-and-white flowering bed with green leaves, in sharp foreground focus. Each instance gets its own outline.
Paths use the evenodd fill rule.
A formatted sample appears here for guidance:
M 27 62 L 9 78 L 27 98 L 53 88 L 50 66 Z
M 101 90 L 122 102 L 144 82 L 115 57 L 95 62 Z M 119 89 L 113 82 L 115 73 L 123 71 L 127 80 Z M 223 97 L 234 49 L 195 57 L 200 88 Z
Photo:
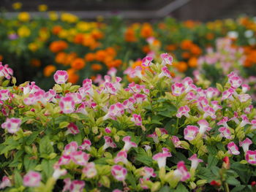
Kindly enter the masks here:
M 175 81 L 173 59 L 143 59 L 125 86 L 112 70 L 99 85 L 1 85 L 4 191 L 255 190 L 256 111 L 235 72 L 217 88 Z M 5 66 L 4 69 L 8 69 Z M 2 70 L 4 70 L 2 69 Z M 4 73 L 5 72 L 5 73 Z M 1 71 L 10 78 L 11 71 Z M 8 75 L 9 74 L 9 75 Z

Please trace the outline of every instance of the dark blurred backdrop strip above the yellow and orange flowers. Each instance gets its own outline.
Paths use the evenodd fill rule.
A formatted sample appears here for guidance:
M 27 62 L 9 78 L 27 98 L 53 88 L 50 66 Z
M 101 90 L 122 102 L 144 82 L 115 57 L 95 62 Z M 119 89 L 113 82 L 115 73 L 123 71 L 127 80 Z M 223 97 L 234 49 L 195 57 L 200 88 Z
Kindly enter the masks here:
M 157 15 L 159 9 L 174 1 L 182 5 Z M 13 12 L 14 2 L 17 1 L 0 0 L 0 7 L 7 12 Z M 128 19 L 158 20 L 170 15 L 178 20 L 201 21 L 256 15 L 256 0 L 20 0 L 19 2 L 23 4 L 23 11 L 37 12 L 39 4 L 47 4 L 48 10 L 68 11 L 85 19 L 93 19 L 94 14 L 97 13 L 105 18 L 120 14 Z

